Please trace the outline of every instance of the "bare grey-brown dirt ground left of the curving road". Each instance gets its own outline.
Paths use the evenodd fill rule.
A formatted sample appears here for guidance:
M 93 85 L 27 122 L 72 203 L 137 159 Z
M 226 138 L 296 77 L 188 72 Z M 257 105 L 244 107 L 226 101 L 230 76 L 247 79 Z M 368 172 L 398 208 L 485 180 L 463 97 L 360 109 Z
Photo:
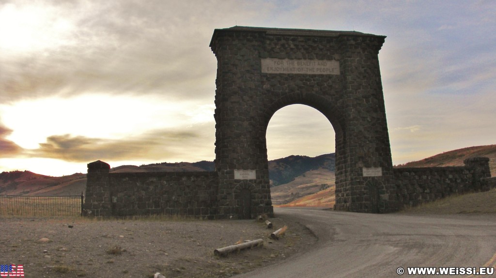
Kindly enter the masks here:
M 316 238 L 290 219 L 91 220 L 0 217 L 0 264 L 23 265 L 25 277 L 229 277 L 305 252 Z M 279 240 L 270 233 L 287 226 Z M 48 238 L 47 242 L 40 240 Z M 214 249 L 262 238 L 263 246 L 214 255 Z

